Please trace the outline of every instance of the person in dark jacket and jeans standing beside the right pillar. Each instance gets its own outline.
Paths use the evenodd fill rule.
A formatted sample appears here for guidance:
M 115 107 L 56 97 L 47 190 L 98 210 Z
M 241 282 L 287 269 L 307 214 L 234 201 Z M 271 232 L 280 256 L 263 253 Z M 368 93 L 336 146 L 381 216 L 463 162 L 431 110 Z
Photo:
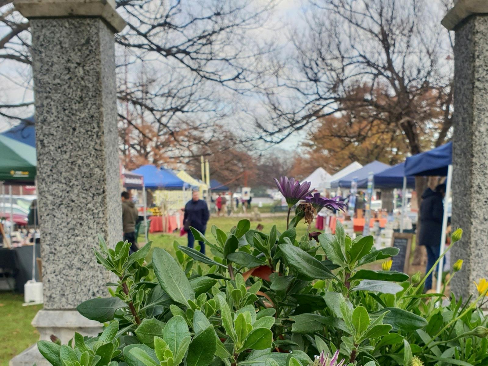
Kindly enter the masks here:
M 446 184 L 439 184 L 435 191 L 427 188 L 422 194 L 420 204 L 420 232 L 418 243 L 427 250 L 427 272 L 434 265 L 440 255 L 442 236 L 442 220 L 444 217 L 444 203 Z M 432 273 L 427 277 L 425 289 L 432 288 Z

